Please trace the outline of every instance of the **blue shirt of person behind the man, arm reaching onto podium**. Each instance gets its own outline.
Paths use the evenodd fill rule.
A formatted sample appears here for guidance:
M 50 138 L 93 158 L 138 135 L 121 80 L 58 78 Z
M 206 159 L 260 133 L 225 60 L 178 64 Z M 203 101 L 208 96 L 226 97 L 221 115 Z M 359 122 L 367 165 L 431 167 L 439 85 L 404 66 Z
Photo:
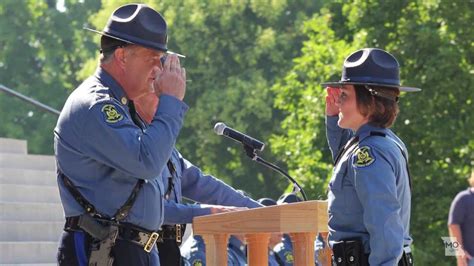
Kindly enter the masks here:
M 210 208 L 199 204 L 183 204 L 183 197 L 199 203 L 217 204 L 256 208 L 262 205 L 248 198 L 225 184 L 221 180 L 202 173 L 201 169 L 184 159 L 174 150 L 171 162 L 175 166 L 176 175 L 173 178 L 173 190 L 168 200 L 165 200 L 164 224 L 192 223 L 196 216 L 211 214 Z M 166 168 L 162 173 L 165 191 L 168 188 L 171 173 Z

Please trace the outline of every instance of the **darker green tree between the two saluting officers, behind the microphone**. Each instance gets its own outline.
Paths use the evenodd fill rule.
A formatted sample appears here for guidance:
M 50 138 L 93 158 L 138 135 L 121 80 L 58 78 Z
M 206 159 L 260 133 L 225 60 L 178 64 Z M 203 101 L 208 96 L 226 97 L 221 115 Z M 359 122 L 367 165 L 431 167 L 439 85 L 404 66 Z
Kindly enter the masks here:
M 91 22 L 103 27 L 124 1 L 104 2 Z M 186 55 L 185 102 L 191 107 L 178 139 L 183 155 L 254 197 L 278 197 L 283 177 L 257 165 L 241 145 L 220 138 L 213 126 L 224 121 L 256 138 L 278 131 L 278 110 L 270 90 L 275 78 L 300 52 L 301 26 L 319 2 L 308 1 L 147 1 L 166 18 L 169 48 Z M 94 64 L 87 64 L 92 72 Z M 82 74 L 81 74 L 82 75 Z M 277 161 L 271 147 L 262 156 Z M 279 162 L 282 163 L 281 161 Z M 285 166 L 284 164 L 282 165 Z

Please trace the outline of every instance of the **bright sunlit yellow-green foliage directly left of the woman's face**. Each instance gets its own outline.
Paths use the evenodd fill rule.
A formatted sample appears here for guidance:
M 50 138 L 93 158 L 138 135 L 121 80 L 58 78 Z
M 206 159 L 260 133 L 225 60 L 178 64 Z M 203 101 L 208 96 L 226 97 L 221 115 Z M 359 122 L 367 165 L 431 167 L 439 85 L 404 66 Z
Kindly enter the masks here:
M 344 55 L 354 46 L 338 40 L 328 26 L 331 15 L 323 10 L 305 23 L 301 57 L 294 60 L 294 67 L 273 86 L 276 93 L 275 106 L 286 113 L 281 126 L 283 134 L 275 134 L 272 145 L 284 153 L 291 173 L 304 181 L 307 194 L 312 199 L 326 198 L 325 183 L 331 163 L 327 158 L 324 130 L 324 89 L 319 85 L 340 71 Z M 360 34 L 360 41 L 364 40 Z M 286 151 L 286 152 L 285 152 Z

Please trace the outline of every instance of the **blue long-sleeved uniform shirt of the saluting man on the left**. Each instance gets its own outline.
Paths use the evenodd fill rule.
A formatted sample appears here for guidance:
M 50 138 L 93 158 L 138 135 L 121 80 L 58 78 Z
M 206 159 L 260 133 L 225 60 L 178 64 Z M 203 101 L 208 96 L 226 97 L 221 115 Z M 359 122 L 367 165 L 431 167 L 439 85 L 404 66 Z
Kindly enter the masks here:
M 125 222 L 158 230 L 163 222 L 161 173 L 174 149 L 188 107 L 160 96 L 146 131 L 130 117 L 121 86 L 103 69 L 85 80 L 66 101 L 54 130 L 57 167 L 98 212 L 112 216 L 139 179 L 145 183 Z M 85 211 L 58 178 L 66 217 Z

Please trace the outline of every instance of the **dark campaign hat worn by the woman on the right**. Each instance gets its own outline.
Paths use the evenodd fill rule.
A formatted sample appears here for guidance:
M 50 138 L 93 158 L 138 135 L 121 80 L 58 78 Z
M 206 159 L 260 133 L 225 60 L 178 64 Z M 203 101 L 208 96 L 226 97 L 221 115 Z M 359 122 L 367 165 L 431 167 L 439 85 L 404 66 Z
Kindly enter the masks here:
M 345 84 L 397 88 L 400 91 L 420 91 L 400 85 L 400 65 L 390 53 L 377 48 L 355 51 L 344 61 L 340 81 L 325 82 L 323 86 L 341 87 Z

